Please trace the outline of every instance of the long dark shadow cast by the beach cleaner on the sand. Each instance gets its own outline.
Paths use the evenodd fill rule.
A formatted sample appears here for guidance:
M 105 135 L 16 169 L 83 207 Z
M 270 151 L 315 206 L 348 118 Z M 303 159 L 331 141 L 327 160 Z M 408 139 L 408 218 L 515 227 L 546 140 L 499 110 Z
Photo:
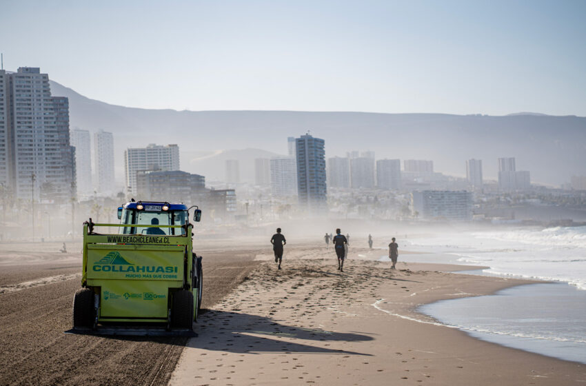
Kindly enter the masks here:
M 209 310 L 196 328 L 199 336 L 190 339 L 187 347 L 231 352 L 261 354 L 263 352 L 364 355 L 342 349 L 322 347 L 327 342 L 372 341 L 361 333 L 330 332 L 277 323 L 264 316 Z M 323 344 L 319 342 L 325 342 Z

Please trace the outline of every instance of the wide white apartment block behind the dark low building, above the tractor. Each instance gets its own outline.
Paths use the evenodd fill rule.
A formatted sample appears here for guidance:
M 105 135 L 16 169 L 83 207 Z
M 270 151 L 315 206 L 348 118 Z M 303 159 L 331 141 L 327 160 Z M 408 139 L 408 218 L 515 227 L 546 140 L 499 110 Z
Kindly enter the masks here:
M 179 170 L 179 146 L 150 143 L 146 148 L 128 148 L 124 151 L 124 170 L 128 192 L 137 194 L 137 172 Z

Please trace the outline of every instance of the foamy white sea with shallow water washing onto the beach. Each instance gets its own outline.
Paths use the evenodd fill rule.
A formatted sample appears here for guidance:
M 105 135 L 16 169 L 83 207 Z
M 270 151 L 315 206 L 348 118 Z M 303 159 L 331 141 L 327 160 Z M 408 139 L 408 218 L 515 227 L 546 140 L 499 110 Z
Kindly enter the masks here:
M 586 227 L 507 228 L 396 235 L 399 261 L 481 265 L 461 273 L 543 281 L 418 312 L 476 338 L 586 363 Z M 387 261 L 383 256 L 381 261 Z

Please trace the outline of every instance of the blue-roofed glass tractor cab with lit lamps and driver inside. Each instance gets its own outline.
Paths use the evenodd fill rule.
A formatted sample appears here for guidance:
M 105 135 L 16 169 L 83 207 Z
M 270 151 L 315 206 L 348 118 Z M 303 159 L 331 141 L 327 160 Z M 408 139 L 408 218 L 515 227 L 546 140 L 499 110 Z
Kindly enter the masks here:
M 194 221 L 200 221 L 201 210 L 195 207 Z M 137 227 L 121 227 L 121 234 L 141 234 L 152 236 L 183 236 L 185 227 L 170 227 L 189 223 L 189 209 L 184 204 L 160 202 L 131 201 L 118 208 L 118 219 L 123 225 Z M 140 225 L 147 225 L 141 227 Z

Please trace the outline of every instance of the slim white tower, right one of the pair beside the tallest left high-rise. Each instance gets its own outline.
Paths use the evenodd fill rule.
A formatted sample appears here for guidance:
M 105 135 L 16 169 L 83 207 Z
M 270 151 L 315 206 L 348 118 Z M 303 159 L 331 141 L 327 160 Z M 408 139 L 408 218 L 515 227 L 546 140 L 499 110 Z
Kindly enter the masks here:
M 94 133 L 94 173 L 97 192 L 114 192 L 114 136 L 111 132 Z

